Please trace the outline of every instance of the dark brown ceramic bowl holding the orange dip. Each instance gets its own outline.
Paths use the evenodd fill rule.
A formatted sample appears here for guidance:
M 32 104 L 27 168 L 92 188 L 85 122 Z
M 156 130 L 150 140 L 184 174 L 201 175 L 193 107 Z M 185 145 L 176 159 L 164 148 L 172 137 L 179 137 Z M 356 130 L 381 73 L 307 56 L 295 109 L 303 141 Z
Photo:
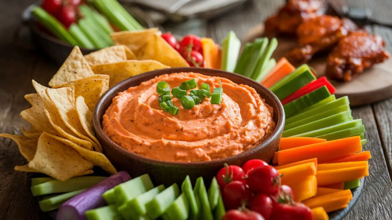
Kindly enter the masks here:
M 237 84 L 245 84 L 253 87 L 260 96 L 265 99 L 265 102 L 273 107 L 274 121 L 276 122 L 275 130 L 266 140 L 261 142 L 260 145 L 249 149 L 248 151 L 224 159 L 206 162 L 166 162 L 147 158 L 127 151 L 115 144 L 108 136 L 105 135 L 102 129 L 102 116 L 105 114 L 109 105 L 111 105 L 114 96 L 129 87 L 139 85 L 141 82 L 150 80 L 155 76 L 180 72 L 195 72 L 208 76 L 220 76 L 228 78 Z M 260 83 L 235 73 L 216 69 L 192 67 L 160 69 L 128 78 L 109 89 L 109 91 L 100 98 L 93 113 L 95 134 L 102 144 L 103 152 L 113 165 L 119 171 L 127 171 L 131 176 L 140 176 L 148 173 L 155 185 L 164 184 L 165 186 L 169 186 L 173 183 L 181 184 L 187 175 L 191 177 L 192 182 L 194 182 L 196 178 L 203 176 L 204 182 L 208 184 L 225 163 L 241 166 L 246 161 L 256 158 L 270 161 L 278 149 L 284 125 L 285 116 L 281 102 L 269 89 Z

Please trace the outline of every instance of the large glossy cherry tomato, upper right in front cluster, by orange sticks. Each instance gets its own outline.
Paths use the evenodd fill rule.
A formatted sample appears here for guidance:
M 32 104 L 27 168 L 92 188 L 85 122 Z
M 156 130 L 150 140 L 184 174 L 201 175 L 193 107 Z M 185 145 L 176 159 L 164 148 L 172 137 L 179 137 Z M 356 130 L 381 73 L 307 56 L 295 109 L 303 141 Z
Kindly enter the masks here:
M 245 180 L 254 194 L 275 195 L 280 185 L 279 173 L 270 165 L 252 169 Z

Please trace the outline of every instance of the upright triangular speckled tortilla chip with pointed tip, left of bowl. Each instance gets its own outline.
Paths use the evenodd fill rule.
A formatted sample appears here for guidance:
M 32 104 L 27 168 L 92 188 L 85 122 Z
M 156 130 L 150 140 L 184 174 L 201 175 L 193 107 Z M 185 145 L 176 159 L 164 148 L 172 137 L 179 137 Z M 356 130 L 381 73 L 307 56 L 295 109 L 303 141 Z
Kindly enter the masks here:
M 69 83 L 94 75 L 78 46 L 69 54 L 64 64 L 49 81 L 49 86 Z

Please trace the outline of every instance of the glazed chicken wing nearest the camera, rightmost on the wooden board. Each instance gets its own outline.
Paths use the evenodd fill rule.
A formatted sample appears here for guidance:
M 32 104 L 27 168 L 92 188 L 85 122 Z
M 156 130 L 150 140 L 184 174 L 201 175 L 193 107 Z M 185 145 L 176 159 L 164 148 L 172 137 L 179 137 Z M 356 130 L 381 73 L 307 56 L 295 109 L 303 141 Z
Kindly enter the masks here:
M 365 31 L 350 33 L 339 40 L 327 58 L 326 75 L 336 80 L 350 81 L 364 69 L 389 58 L 385 43 L 378 35 Z

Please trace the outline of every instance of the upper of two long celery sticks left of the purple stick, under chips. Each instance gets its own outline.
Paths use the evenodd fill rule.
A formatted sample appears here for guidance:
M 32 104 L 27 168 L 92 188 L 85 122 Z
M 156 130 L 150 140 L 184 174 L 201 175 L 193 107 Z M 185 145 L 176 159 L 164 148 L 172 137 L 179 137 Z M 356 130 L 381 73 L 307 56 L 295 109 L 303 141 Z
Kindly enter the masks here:
M 42 184 L 33 185 L 31 192 L 33 196 L 48 195 L 53 193 L 68 193 L 80 189 L 89 188 L 102 180 L 104 176 L 79 176 L 65 181 L 51 180 Z

